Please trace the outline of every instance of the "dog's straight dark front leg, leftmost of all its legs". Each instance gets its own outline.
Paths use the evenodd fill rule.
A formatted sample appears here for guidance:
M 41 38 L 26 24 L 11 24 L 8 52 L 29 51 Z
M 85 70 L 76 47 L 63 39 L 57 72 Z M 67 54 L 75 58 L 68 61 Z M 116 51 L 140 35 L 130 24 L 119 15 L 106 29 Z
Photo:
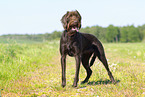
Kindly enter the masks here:
M 66 86 L 66 55 L 61 56 L 62 87 Z

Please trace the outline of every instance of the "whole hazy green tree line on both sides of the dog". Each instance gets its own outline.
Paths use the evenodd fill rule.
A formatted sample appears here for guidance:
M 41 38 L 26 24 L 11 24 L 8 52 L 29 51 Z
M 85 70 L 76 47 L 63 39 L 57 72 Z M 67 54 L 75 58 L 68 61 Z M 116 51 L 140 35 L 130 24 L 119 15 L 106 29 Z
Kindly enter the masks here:
M 138 27 L 135 27 L 134 25 L 123 27 L 117 27 L 114 25 L 109 25 L 108 27 L 91 26 L 81 28 L 80 32 L 93 34 L 103 42 L 141 42 L 145 39 L 145 24 Z M 37 35 L 3 35 L 0 37 L 33 41 L 49 41 L 60 39 L 61 34 L 62 31 L 54 31 L 52 33 Z

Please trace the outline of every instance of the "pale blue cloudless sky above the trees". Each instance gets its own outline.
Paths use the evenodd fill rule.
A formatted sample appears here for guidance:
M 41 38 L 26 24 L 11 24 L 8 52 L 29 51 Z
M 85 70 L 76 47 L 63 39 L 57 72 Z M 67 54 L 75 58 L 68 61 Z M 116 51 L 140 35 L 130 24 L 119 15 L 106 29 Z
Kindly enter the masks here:
M 83 28 L 145 24 L 145 0 L 0 0 L 0 35 L 63 31 L 60 19 L 72 10 Z

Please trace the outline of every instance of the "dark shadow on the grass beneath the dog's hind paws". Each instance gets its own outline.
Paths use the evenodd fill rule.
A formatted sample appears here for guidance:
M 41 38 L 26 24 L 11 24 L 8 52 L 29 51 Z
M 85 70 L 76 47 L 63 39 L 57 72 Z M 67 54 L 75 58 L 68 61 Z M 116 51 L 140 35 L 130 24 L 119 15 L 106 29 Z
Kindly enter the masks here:
M 100 79 L 99 81 L 91 81 L 91 82 L 88 82 L 87 85 L 107 85 L 107 84 L 117 84 L 119 83 L 120 80 L 116 80 L 115 83 L 112 83 L 110 80 L 102 80 Z

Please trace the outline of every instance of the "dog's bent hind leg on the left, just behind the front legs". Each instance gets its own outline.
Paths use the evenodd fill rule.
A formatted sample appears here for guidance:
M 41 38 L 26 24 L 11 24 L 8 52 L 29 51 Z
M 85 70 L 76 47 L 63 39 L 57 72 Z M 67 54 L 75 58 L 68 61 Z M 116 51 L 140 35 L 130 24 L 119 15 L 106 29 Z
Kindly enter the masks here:
M 92 70 L 89 65 L 90 57 L 91 57 L 91 54 L 90 55 L 86 54 L 86 55 L 82 56 L 82 65 L 84 66 L 84 68 L 86 69 L 86 72 L 87 72 L 87 76 L 86 76 L 85 80 L 82 81 L 82 84 L 88 82 L 88 80 L 92 74 Z

